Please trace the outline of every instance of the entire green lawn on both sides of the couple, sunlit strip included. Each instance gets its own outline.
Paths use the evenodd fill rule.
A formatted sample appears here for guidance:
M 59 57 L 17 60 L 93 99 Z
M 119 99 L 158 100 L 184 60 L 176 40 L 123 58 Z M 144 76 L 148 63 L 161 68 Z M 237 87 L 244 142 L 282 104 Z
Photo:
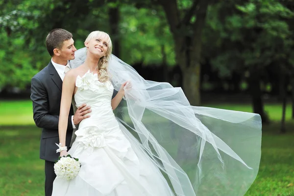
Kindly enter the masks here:
M 34 126 L 30 101 L 0 102 L 0 196 L 44 196 L 44 161 L 39 159 L 41 129 Z M 208 107 L 251 112 L 250 105 Z M 281 107 L 266 105 L 258 176 L 246 196 L 294 196 L 294 121 L 287 110 L 287 134 L 279 134 Z M 16 125 L 26 126 L 16 126 Z M 1 126 L 2 125 L 2 126 Z

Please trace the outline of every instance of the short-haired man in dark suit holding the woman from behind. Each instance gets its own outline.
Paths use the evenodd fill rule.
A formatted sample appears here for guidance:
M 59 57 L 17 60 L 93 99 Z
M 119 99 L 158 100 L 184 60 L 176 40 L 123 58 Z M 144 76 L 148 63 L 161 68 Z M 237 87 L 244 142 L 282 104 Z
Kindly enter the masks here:
M 76 48 L 73 45 L 73 35 L 67 30 L 56 28 L 46 37 L 46 47 L 52 57 L 49 64 L 37 73 L 31 80 L 31 100 L 33 102 L 34 121 L 37 127 L 42 128 L 40 143 L 40 159 L 45 160 L 45 196 L 51 196 L 53 181 L 56 177 L 54 162 L 59 153 L 55 143 L 59 143 L 58 120 L 61 101 L 62 81 L 69 70 L 69 60 L 74 59 Z M 85 115 L 90 112 L 85 104 L 80 106 L 73 115 L 71 106 L 66 146 L 70 147 L 73 129 Z

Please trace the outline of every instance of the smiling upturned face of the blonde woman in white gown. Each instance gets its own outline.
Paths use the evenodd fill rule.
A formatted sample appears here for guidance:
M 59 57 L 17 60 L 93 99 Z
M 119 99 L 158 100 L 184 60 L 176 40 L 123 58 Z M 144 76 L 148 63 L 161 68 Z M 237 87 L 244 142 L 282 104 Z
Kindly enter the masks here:
M 106 52 L 108 51 L 107 40 L 102 37 L 92 38 L 85 45 L 88 48 L 89 53 L 92 53 L 99 58 L 105 56 Z

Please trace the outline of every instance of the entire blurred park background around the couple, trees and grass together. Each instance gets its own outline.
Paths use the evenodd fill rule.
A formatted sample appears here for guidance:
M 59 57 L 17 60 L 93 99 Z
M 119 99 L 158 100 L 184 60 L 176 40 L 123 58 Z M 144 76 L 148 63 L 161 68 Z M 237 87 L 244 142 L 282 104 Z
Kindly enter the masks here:
M 261 164 L 246 196 L 294 195 L 294 0 L 0 0 L 0 195 L 44 195 L 29 95 L 53 28 L 77 49 L 108 32 L 114 55 L 192 105 L 259 113 Z

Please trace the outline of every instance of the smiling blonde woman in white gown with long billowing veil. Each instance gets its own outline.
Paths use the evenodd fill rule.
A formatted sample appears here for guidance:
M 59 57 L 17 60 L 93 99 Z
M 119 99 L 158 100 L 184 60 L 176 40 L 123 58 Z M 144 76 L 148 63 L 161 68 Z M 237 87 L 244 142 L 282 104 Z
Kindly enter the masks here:
M 111 51 L 107 33 L 91 32 L 64 78 L 62 146 L 72 96 L 92 111 L 60 152 L 78 158 L 80 171 L 57 177 L 52 196 L 243 196 L 259 168 L 260 116 L 191 106 L 181 88 L 144 80 Z

